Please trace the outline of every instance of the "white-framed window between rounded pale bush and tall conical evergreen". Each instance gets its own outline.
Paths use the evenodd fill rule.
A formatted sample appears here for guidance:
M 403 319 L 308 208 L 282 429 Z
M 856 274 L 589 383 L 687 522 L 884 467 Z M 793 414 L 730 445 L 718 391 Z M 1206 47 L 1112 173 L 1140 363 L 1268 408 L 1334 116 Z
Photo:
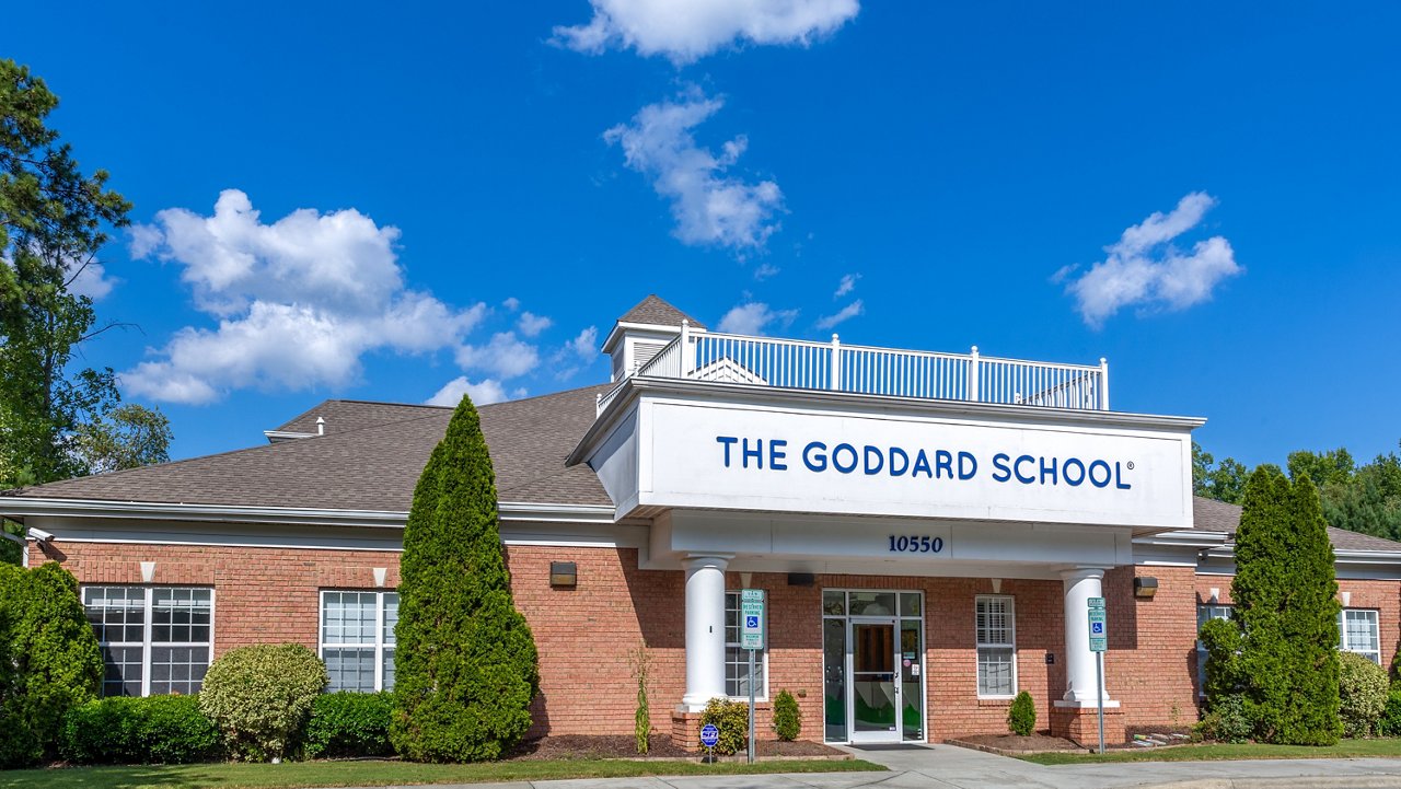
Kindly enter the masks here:
M 394 689 L 398 591 L 322 591 L 321 659 L 329 691 Z

